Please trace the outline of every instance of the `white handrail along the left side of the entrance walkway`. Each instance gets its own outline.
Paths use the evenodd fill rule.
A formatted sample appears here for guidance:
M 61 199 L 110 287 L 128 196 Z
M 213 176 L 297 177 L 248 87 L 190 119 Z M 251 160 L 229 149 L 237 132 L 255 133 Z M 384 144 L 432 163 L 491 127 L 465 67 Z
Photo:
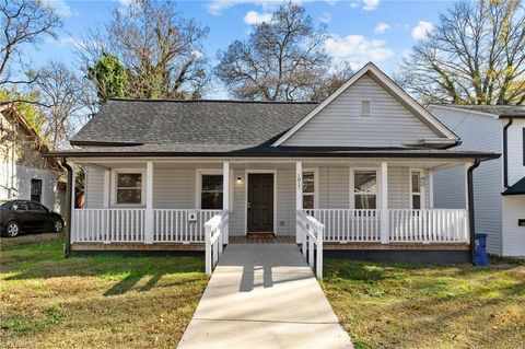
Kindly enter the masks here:
M 228 210 L 222 210 L 205 223 L 206 275 L 211 276 L 222 254 L 224 232 L 228 231 Z

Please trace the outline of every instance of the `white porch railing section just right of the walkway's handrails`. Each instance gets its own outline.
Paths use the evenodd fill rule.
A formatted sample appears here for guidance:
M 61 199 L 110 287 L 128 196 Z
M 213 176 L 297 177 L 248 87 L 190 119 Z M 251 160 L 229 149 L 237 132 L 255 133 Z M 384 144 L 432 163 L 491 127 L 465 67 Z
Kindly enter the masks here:
M 328 242 L 380 242 L 381 210 L 304 210 L 325 224 Z

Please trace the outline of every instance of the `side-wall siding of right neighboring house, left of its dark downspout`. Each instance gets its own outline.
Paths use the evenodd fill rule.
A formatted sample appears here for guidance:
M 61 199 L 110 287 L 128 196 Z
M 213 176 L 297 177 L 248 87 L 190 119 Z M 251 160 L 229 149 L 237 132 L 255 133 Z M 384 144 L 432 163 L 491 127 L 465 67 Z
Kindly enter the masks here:
M 462 144 L 453 150 L 502 152 L 500 120 L 468 110 L 431 108 L 432 114 L 459 136 Z M 474 172 L 476 232 L 489 234 L 487 248 L 502 254 L 502 162 L 501 159 L 481 163 Z M 465 207 L 465 167 L 436 171 L 434 174 L 435 207 Z

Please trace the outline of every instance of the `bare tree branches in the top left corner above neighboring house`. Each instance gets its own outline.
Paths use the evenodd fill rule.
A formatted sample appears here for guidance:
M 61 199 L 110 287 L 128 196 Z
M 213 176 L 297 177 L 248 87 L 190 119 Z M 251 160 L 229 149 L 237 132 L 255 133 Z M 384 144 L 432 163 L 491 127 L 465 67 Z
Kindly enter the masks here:
M 24 45 L 40 43 L 46 36 L 56 36 L 62 25 L 49 4 L 39 0 L 3 0 L 0 4 L 0 88 L 7 84 L 31 83 L 32 75 L 13 77 L 13 62 L 18 61 Z

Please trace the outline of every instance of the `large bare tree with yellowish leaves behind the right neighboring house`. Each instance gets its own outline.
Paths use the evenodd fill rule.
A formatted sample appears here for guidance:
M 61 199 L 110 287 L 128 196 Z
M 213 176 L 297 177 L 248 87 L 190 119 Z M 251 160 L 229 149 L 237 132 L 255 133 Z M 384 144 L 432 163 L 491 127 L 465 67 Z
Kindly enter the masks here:
M 423 103 L 524 104 L 523 0 L 462 1 L 401 63 L 397 80 Z

